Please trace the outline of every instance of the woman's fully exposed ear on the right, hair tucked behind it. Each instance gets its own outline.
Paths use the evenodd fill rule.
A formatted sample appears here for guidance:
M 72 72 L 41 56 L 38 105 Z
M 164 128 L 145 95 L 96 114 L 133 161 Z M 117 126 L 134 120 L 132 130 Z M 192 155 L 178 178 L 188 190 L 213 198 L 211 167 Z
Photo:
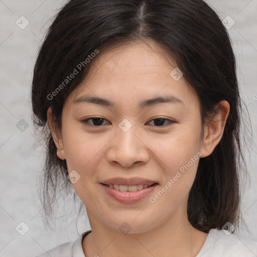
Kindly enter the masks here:
M 230 110 L 229 103 L 222 100 L 215 105 L 215 110 L 217 114 L 204 125 L 201 158 L 209 156 L 220 142 Z

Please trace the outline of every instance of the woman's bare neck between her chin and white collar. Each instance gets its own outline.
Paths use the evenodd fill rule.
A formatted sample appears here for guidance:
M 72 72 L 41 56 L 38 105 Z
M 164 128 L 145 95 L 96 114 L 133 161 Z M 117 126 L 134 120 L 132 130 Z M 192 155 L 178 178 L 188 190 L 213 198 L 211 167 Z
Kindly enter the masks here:
M 194 257 L 208 233 L 192 227 L 187 217 L 180 214 L 146 232 L 123 234 L 96 220 L 88 211 L 92 232 L 82 241 L 85 256 L 142 257 L 152 254 L 155 257 Z

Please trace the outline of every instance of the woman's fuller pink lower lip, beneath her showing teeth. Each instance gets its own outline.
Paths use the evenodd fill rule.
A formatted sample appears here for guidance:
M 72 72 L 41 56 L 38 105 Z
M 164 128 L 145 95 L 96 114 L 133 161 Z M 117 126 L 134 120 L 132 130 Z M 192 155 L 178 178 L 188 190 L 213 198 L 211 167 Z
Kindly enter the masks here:
M 135 192 L 122 192 L 119 190 L 116 190 L 114 188 L 110 188 L 104 184 L 101 184 L 101 186 L 104 188 L 104 190 L 107 192 L 108 195 L 110 195 L 112 198 L 117 200 L 121 203 L 135 203 L 143 198 L 145 198 L 148 194 L 150 194 L 157 186 L 157 184 L 148 187 L 143 188 L 141 190 L 135 191 Z

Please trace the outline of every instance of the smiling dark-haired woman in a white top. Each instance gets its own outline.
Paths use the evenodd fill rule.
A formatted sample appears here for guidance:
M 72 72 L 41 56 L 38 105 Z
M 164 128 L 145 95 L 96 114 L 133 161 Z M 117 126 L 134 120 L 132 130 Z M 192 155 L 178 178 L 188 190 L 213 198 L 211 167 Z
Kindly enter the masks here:
M 40 49 L 32 103 L 45 211 L 73 187 L 91 226 L 40 257 L 257 255 L 234 234 L 241 99 L 205 2 L 69 1 Z

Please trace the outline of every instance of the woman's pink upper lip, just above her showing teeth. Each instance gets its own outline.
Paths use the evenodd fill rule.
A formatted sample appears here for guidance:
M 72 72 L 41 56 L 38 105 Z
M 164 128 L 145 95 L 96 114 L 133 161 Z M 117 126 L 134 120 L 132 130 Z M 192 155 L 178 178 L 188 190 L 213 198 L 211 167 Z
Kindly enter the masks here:
M 149 185 L 149 186 L 151 186 L 151 185 L 153 185 L 153 184 L 155 184 L 157 182 L 149 180 L 149 179 L 137 178 L 137 177 L 133 177 L 133 178 L 117 177 L 117 178 L 112 178 L 112 179 L 104 180 L 101 183 L 105 184 L 105 185 L 125 185 L 125 186 Z

